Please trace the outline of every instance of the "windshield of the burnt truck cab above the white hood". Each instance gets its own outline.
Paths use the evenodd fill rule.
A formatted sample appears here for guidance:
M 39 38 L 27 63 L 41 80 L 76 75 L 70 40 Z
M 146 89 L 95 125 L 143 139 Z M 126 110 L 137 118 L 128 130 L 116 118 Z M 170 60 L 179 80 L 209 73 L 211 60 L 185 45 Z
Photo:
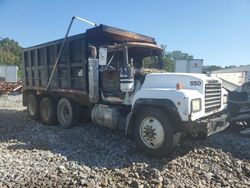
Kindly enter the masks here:
M 129 64 L 135 68 L 162 69 L 162 52 L 153 48 L 130 47 L 128 50 Z

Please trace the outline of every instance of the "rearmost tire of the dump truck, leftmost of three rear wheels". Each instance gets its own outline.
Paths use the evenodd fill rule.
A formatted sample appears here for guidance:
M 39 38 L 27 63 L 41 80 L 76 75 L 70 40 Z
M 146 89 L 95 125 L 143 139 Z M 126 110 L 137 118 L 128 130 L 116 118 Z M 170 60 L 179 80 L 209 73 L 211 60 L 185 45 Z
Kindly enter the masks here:
M 39 119 L 39 98 L 34 94 L 29 94 L 27 97 L 27 110 L 31 119 Z

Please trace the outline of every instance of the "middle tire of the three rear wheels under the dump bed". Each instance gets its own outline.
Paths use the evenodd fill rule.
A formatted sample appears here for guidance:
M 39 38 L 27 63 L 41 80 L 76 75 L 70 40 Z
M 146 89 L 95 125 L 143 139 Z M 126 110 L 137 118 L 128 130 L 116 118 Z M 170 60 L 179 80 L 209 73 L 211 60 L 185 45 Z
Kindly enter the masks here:
M 57 122 L 56 100 L 44 97 L 39 105 L 40 119 L 43 124 L 51 125 Z

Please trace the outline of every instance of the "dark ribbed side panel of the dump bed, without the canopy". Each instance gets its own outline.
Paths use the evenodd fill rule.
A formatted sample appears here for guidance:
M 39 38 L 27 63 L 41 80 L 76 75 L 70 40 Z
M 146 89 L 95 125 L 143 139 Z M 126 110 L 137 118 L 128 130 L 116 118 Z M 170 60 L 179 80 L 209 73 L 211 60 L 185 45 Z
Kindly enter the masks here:
M 63 40 L 23 50 L 24 90 L 45 91 Z M 49 92 L 87 93 L 85 34 L 69 37 L 59 59 Z

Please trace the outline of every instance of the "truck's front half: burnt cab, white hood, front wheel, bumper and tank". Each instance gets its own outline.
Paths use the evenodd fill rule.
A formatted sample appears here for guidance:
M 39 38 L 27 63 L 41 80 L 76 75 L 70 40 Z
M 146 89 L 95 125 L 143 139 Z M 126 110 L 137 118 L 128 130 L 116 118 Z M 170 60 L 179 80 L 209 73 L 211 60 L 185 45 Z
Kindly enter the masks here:
M 169 153 L 182 132 L 209 136 L 228 126 L 221 81 L 204 74 L 167 73 L 161 52 L 155 44 L 139 42 L 100 48 L 102 104 L 92 110 L 98 124 L 115 128 L 126 122 L 126 133 L 155 156 Z

